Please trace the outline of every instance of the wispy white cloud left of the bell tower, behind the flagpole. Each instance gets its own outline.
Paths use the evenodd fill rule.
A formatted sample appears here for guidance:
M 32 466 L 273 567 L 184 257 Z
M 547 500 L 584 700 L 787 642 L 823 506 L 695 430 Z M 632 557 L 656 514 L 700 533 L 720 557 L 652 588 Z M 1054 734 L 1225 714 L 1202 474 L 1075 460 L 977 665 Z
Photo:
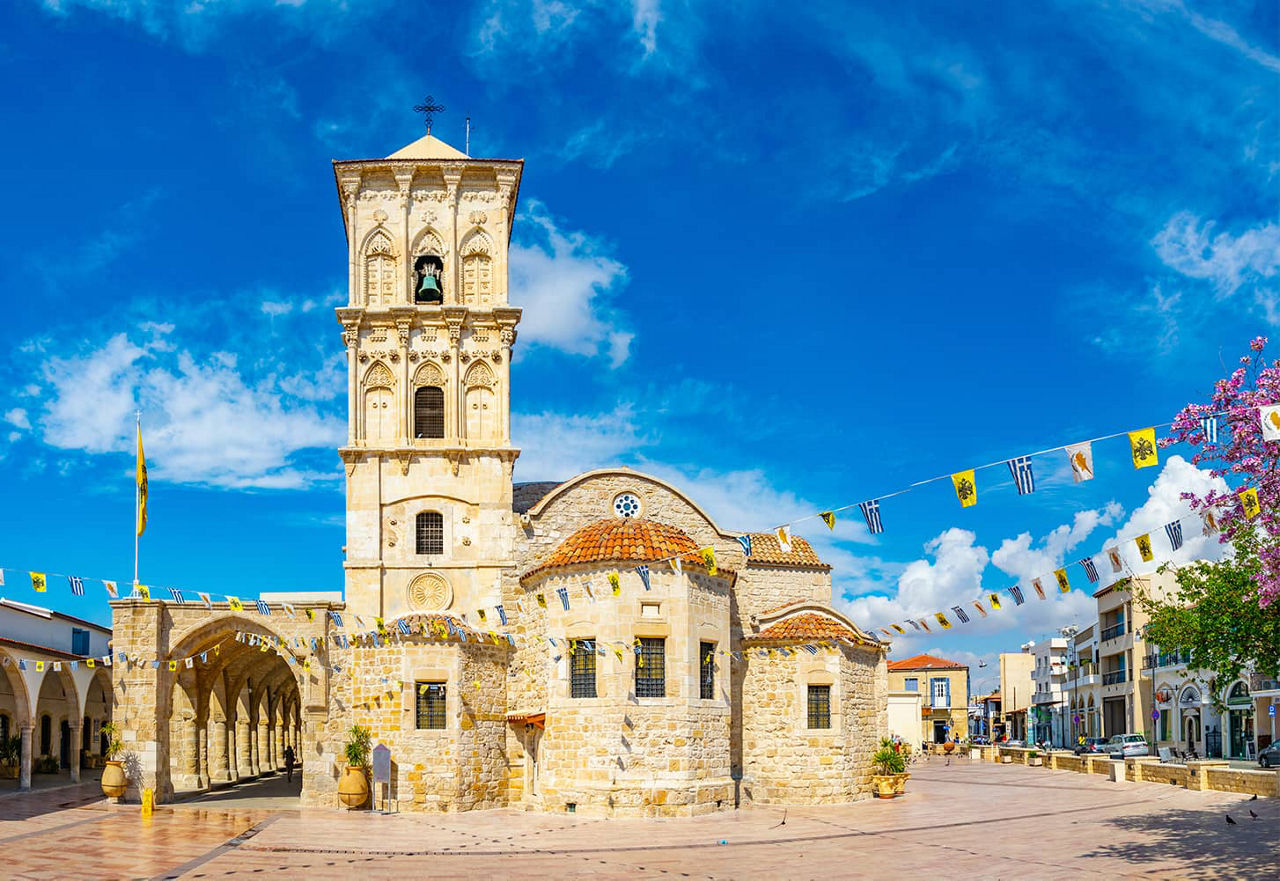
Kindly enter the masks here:
M 84 355 L 51 359 L 44 380 L 47 402 L 37 423 L 50 446 L 127 453 L 141 408 L 155 479 L 269 488 L 335 479 L 300 466 L 296 456 L 340 444 L 343 421 L 274 383 L 251 384 L 232 353 L 200 360 L 122 333 Z

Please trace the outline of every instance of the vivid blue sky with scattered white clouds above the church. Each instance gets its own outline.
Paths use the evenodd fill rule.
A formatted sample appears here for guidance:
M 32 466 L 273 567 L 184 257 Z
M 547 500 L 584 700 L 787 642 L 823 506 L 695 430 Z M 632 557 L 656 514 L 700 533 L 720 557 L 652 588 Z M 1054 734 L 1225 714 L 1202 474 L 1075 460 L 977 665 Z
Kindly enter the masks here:
M 526 159 L 517 479 L 626 464 L 765 529 L 1167 421 L 1280 323 L 1277 24 L 1166 0 L 5 4 L 0 566 L 128 580 L 141 406 L 143 581 L 340 586 L 329 160 L 419 137 L 428 92 L 435 134 L 462 146 L 470 115 L 474 155 Z M 984 471 L 968 510 L 931 484 L 874 539 L 800 531 L 878 625 L 1158 526 L 1206 480 L 1096 456 L 1082 485 L 1037 460 L 1029 498 Z M 1089 607 L 895 656 L 987 657 Z

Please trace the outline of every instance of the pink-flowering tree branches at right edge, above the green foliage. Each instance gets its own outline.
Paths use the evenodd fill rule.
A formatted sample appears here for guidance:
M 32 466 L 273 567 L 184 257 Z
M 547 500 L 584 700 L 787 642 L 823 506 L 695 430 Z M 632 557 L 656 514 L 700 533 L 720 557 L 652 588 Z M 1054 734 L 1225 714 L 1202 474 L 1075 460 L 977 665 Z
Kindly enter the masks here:
M 1188 403 L 1174 420 L 1169 437 L 1160 446 L 1189 443 L 1198 447 L 1192 462 L 1225 478 L 1228 493 L 1210 490 L 1207 496 L 1184 493 L 1192 508 L 1212 512 L 1220 529 L 1220 540 L 1231 542 L 1236 551 L 1247 547 L 1257 554 L 1253 580 L 1258 604 L 1266 608 L 1280 599 L 1280 442 L 1262 435 L 1260 407 L 1280 403 L 1280 359 L 1267 361 L 1266 337 L 1249 344 L 1251 353 L 1240 359 L 1231 375 L 1220 379 L 1212 397 L 1203 403 Z M 1217 443 L 1204 437 L 1203 419 L 1217 414 Z M 1244 516 L 1238 490 L 1258 490 L 1257 516 Z M 1239 539 L 1248 537 L 1247 542 Z

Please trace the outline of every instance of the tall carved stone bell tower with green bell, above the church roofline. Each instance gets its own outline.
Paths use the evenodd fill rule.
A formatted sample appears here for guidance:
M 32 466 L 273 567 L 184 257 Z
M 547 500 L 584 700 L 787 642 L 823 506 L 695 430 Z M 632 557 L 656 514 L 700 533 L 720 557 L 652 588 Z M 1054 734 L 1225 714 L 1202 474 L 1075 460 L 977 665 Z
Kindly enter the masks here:
M 428 134 L 334 161 L 347 232 L 349 613 L 492 606 L 512 565 L 507 245 L 521 160 Z

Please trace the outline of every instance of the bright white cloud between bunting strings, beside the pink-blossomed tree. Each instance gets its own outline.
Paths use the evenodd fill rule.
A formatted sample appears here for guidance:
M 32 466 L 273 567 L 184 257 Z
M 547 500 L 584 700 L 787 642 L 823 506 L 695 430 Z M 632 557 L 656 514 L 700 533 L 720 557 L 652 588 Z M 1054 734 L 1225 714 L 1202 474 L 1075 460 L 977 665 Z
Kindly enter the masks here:
M 1098 557 L 1112 544 L 1120 543 L 1120 553 L 1129 566 L 1129 571 L 1135 575 L 1153 572 L 1165 562 L 1176 565 L 1188 563 L 1193 560 L 1221 560 L 1226 546 L 1217 540 L 1217 535 L 1203 535 L 1199 526 L 1199 516 L 1192 511 L 1190 503 L 1181 498 L 1183 493 L 1207 496 L 1210 490 L 1229 493 L 1226 483 L 1221 478 L 1215 478 L 1208 471 L 1196 467 L 1181 456 L 1170 456 L 1155 483 L 1147 490 L 1147 501 L 1133 511 L 1129 519 L 1119 528 L 1115 535 L 1098 548 Z M 1183 547 L 1176 552 L 1170 551 L 1169 538 L 1165 535 L 1165 524 L 1174 520 L 1183 520 Z M 1151 534 L 1155 560 L 1142 562 L 1138 548 L 1133 539 L 1143 533 Z M 1111 574 L 1110 563 L 1100 565 L 1103 584 L 1110 584 L 1116 578 Z

